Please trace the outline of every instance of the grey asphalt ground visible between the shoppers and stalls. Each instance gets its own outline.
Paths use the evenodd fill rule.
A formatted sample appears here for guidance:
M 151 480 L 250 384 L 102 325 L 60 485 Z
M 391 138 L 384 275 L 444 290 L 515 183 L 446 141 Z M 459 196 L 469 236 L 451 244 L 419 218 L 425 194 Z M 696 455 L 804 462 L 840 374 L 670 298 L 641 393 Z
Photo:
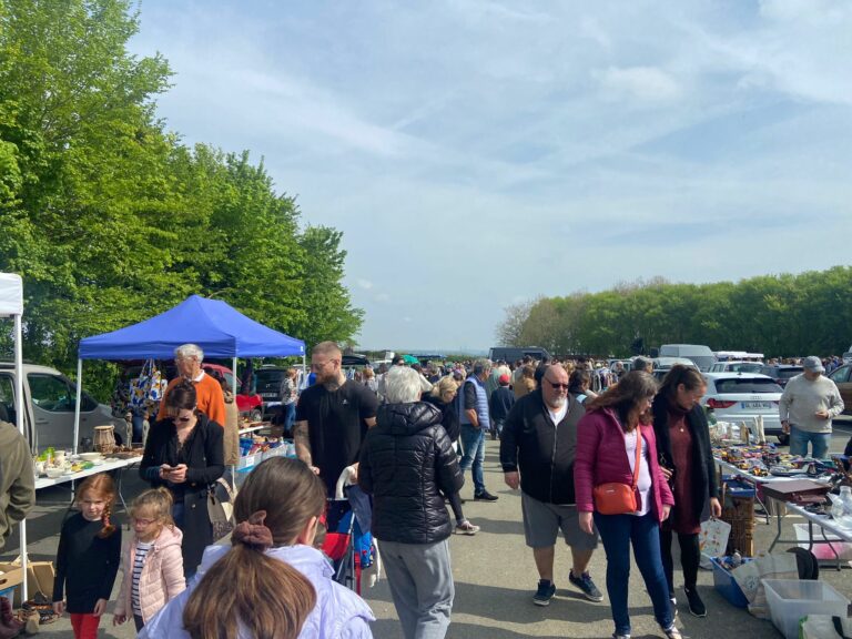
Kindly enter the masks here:
M 843 450 L 852 436 L 852 418 L 835 422 L 831 452 Z M 519 639 L 539 637 L 561 639 L 606 638 L 612 633 L 612 620 L 609 600 L 606 596 L 606 557 L 602 547 L 596 551 L 590 566 L 591 577 L 605 594 L 604 601 L 594 604 L 582 598 L 579 590 L 568 582 L 570 552 L 557 541 L 556 555 L 556 597 L 548 607 L 532 604 L 538 575 L 532 562 L 532 554 L 524 542 L 524 526 L 520 514 L 520 494 L 510 490 L 503 483 L 503 473 L 498 463 L 498 443 L 488 442 L 486 453 L 486 485 L 488 490 L 499 496 L 496 503 L 473 501 L 470 475 L 468 484 L 462 489 L 465 515 L 481 530 L 473 537 L 454 535 L 450 538 L 453 574 L 456 599 L 453 608 L 453 622 L 447 637 L 453 639 Z M 128 501 L 144 489 L 134 469 L 124 476 L 123 494 Z M 68 488 L 53 487 L 40 490 L 38 505 L 28 518 L 29 551 L 31 560 L 52 560 L 59 542 L 59 530 L 68 508 L 70 493 Z M 116 518 L 124 521 L 124 514 Z M 788 515 L 783 519 L 784 538 L 794 538 L 792 525 L 801 518 Z M 129 535 L 126 527 L 125 535 Z M 755 550 L 767 549 L 775 535 L 775 521 L 765 525 L 762 519 L 755 524 Z M 19 540 L 14 535 L 7 544 L 0 560 L 8 561 L 18 554 Z M 779 545 L 777 551 L 790 545 Z M 713 588 L 712 572 L 701 570 L 699 590 L 708 608 L 708 616 L 702 619 L 690 616 L 684 606 L 682 576 L 676 568 L 676 586 L 679 599 L 678 625 L 684 636 L 693 639 L 719 639 L 719 637 L 781 637 L 770 621 L 755 619 L 746 610 L 732 607 Z M 820 579 L 831 584 L 838 591 L 852 599 L 852 570 L 838 571 L 833 565 L 823 565 Z M 116 579 L 113 599 L 118 596 Z M 364 597 L 376 615 L 373 632 L 376 639 L 397 639 L 400 637 L 399 623 L 394 609 L 386 580 L 381 580 L 375 588 L 365 590 Z M 258 601 L 262 605 L 262 601 Z M 109 611 L 112 610 L 112 604 Z M 635 638 L 663 637 L 651 610 L 650 599 L 639 571 L 633 566 L 630 575 L 630 613 Z M 49 626 L 43 626 L 41 635 L 57 639 L 71 639 L 68 617 Z M 112 616 L 108 613 L 101 622 L 100 637 L 124 639 L 135 637 L 133 623 L 113 627 Z

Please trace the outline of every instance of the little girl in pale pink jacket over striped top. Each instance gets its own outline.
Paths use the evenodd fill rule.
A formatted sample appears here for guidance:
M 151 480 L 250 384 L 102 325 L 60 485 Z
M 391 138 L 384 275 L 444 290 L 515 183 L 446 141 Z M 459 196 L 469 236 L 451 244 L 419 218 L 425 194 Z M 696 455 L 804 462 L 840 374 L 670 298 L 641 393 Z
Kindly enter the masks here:
M 172 521 L 172 496 L 165 488 L 145 490 L 130 508 L 134 535 L 122 558 L 123 577 L 113 625 L 132 615 L 136 632 L 186 589 L 181 540 Z

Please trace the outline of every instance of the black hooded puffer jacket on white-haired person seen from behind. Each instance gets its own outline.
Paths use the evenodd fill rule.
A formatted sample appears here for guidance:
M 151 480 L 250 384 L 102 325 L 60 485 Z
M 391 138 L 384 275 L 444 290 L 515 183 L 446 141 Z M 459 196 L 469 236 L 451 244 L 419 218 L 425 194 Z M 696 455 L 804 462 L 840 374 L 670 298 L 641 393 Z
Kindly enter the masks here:
M 453 532 L 440 493 L 458 491 L 465 479 L 440 419 L 425 402 L 378 407 L 358 468 L 358 484 L 373 495 L 377 539 L 434 544 Z

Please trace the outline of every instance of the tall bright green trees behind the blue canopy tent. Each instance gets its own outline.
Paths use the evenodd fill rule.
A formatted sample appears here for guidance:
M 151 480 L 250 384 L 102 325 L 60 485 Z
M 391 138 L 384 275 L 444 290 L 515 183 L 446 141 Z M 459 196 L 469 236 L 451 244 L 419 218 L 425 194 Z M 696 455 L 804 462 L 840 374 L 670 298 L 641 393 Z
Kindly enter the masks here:
M 0 271 L 24 278 L 24 354 L 215 296 L 312 343 L 357 333 L 341 233 L 300 227 L 248 152 L 158 120 L 162 55 L 128 52 L 129 0 L 0 0 Z

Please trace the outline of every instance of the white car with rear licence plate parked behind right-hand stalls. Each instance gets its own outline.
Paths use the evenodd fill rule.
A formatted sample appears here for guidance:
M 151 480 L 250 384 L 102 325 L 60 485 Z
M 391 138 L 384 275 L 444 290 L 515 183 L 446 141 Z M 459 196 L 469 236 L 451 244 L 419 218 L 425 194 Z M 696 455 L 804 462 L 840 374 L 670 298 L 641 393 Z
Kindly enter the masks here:
M 719 422 L 753 424 L 763 418 L 765 435 L 774 435 L 787 445 L 790 436 L 781 432 L 778 414 L 783 392 L 772 377 L 758 373 L 704 373 L 707 393 L 701 405 L 713 409 Z

